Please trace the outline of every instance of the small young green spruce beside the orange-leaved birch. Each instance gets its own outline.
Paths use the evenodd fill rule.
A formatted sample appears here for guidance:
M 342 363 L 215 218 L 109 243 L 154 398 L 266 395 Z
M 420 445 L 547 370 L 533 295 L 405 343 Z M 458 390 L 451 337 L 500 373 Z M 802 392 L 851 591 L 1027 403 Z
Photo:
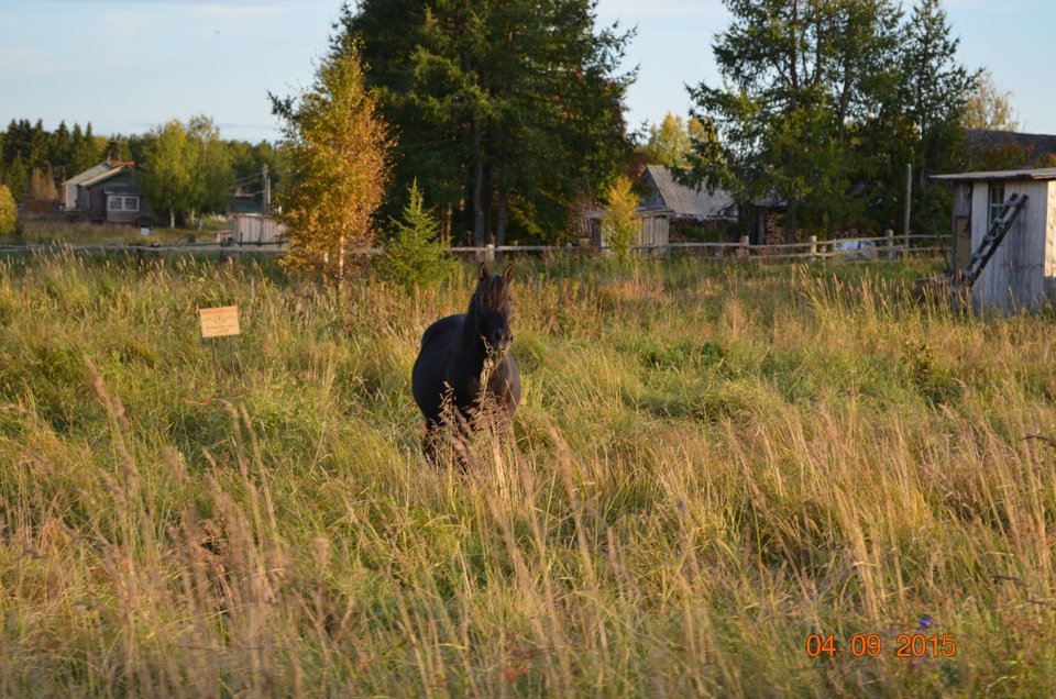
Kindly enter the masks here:
M 458 265 L 443 251 L 439 223 L 425 207 L 417 182 L 408 197 L 403 218 L 389 219 L 394 232 L 385 245 L 382 273 L 409 291 L 451 278 Z

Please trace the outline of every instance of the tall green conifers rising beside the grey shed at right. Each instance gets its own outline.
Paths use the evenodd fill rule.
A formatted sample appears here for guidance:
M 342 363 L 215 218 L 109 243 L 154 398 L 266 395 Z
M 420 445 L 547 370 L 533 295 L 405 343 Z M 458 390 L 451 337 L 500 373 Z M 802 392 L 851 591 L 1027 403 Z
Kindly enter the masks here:
M 690 90 L 718 137 L 695 140 L 688 179 L 744 203 L 784 201 L 794 242 L 801 229 L 892 228 L 912 164 L 913 224 L 930 231 L 944 195 L 928 176 L 959 152 L 972 82 L 942 1 L 921 0 L 908 20 L 894 0 L 726 5 L 733 20 L 714 45 L 722 85 Z

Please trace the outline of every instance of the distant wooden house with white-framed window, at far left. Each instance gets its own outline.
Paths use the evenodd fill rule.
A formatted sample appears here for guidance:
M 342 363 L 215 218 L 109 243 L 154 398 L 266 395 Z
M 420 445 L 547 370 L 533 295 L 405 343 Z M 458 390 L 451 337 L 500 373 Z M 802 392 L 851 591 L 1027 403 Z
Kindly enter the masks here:
M 135 163 L 102 163 L 63 182 L 67 215 L 92 223 L 150 225 L 154 213 Z

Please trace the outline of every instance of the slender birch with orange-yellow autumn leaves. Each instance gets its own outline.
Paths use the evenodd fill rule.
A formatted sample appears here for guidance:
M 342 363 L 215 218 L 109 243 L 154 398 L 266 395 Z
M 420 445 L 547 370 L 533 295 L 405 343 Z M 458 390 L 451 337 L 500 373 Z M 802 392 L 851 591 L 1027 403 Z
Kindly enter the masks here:
M 311 88 L 283 107 L 290 175 L 279 198 L 290 243 L 285 263 L 340 285 L 353 267 L 346 248 L 373 242 L 372 215 L 385 191 L 392 145 L 358 48 L 323 58 Z

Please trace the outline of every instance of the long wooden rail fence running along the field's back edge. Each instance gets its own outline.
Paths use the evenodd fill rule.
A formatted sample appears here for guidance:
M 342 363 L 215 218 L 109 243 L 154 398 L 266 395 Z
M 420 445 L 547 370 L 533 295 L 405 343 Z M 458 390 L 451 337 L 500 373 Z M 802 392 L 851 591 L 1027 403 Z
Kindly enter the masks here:
M 932 244 L 925 243 L 947 243 Z M 914 244 L 916 243 L 916 244 Z M 223 255 L 238 254 L 284 254 L 288 249 L 285 241 L 270 241 L 260 243 L 152 243 L 147 245 L 123 245 L 118 243 L 97 243 L 76 245 L 64 244 L 29 244 L 0 245 L 0 254 L 18 253 L 220 253 Z M 453 246 L 446 247 L 446 252 L 460 257 L 477 259 L 494 259 L 497 255 L 597 255 L 610 252 L 608 247 L 583 245 L 485 245 L 483 247 Z M 831 259 L 845 257 L 846 259 L 880 259 L 893 258 L 903 253 L 935 254 L 949 251 L 948 237 L 938 235 L 899 235 L 897 237 L 860 237 L 839 241 L 810 240 L 805 243 L 779 243 L 773 245 L 749 245 L 747 240 L 739 243 L 668 243 L 666 245 L 638 245 L 631 251 L 647 254 L 664 254 L 671 251 L 685 251 L 724 259 Z M 382 247 L 363 247 L 349 249 L 351 255 L 384 255 Z

